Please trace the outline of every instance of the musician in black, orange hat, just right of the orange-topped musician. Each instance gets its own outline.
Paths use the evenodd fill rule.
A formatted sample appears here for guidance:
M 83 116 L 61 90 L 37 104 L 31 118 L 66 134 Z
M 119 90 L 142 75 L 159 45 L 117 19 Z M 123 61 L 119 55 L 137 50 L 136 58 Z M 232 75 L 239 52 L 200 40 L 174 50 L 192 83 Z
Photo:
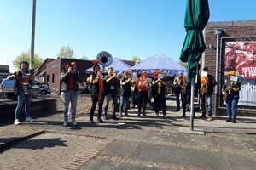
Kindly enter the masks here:
M 151 94 L 154 99 L 154 111 L 156 116 L 159 116 L 159 109 L 163 111 L 163 116 L 167 118 L 166 115 L 166 77 L 163 73 L 156 71 L 154 73 L 154 80 L 152 81 L 152 91 Z

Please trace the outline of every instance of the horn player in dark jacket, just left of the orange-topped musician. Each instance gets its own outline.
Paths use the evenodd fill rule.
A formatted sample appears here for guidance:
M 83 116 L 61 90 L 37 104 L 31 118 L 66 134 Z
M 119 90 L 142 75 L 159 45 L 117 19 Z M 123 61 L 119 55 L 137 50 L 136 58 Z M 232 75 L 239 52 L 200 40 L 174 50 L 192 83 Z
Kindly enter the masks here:
M 120 117 L 123 116 L 125 105 L 125 116 L 128 115 L 129 100 L 131 98 L 131 69 L 127 69 L 120 80 Z

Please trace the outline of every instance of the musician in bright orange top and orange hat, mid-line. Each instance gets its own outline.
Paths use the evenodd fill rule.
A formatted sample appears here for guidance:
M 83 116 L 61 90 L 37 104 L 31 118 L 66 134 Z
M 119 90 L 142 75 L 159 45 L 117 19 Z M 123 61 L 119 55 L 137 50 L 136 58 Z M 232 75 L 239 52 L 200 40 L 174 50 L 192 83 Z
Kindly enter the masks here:
M 143 107 L 143 117 L 146 117 L 146 105 L 148 102 L 148 85 L 150 82 L 148 82 L 148 75 L 145 71 L 141 74 L 141 77 L 139 78 L 137 82 L 137 88 L 139 90 L 139 101 L 138 101 L 138 115 L 141 116 L 141 111 Z

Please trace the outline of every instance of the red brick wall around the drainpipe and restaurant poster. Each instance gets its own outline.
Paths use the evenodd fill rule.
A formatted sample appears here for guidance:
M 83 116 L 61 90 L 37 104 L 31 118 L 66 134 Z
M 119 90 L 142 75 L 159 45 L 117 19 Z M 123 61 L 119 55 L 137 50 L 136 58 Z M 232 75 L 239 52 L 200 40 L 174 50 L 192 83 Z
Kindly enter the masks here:
M 216 63 L 217 36 L 216 28 L 223 32 L 220 34 L 220 63 Z M 230 22 L 209 22 L 204 30 L 204 38 L 207 49 L 202 54 L 201 66 L 207 66 L 211 74 L 216 77 L 216 65 L 219 65 L 218 85 L 222 86 L 224 82 L 224 43 L 226 41 L 256 41 L 256 20 L 230 21 Z M 222 106 L 221 95 L 218 94 L 218 107 Z M 215 105 L 215 94 L 212 95 L 212 113 Z M 253 108 L 255 109 L 255 108 Z M 225 114 L 224 109 L 218 109 L 218 114 Z M 251 111 L 255 113 L 255 111 Z

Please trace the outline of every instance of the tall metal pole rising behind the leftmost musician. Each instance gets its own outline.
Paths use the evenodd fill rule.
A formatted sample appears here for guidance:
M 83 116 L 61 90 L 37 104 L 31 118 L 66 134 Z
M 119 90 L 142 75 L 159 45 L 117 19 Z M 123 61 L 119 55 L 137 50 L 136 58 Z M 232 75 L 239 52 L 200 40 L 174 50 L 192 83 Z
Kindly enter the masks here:
M 31 37 L 31 55 L 30 55 L 30 69 L 34 70 L 34 46 L 35 46 L 35 27 L 36 27 L 36 3 L 37 0 L 33 0 L 32 7 L 32 37 Z

